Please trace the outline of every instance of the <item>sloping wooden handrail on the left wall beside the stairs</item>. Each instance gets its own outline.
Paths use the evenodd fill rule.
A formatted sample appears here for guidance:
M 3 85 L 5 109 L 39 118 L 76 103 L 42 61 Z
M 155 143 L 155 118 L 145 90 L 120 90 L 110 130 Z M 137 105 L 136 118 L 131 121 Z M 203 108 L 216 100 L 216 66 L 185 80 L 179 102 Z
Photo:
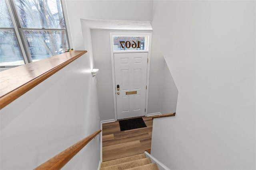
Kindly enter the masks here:
M 81 141 L 75 143 L 66 150 L 60 152 L 53 158 L 50 158 L 48 161 L 42 163 L 34 170 L 60 170 L 66 163 L 68 163 L 71 158 L 73 158 L 87 143 L 89 143 L 100 132 L 101 130 L 94 132 L 92 135 L 82 139 Z

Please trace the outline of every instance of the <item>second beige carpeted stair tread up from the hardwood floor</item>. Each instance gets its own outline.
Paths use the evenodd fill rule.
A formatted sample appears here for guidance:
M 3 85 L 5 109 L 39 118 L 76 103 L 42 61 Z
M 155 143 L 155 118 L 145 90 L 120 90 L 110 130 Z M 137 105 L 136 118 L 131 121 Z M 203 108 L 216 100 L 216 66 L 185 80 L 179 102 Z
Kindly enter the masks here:
M 142 159 L 133 160 L 130 162 L 124 162 L 121 164 L 106 166 L 106 167 L 100 168 L 100 170 L 125 170 L 125 169 L 134 168 L 134 167 L 142 166 L 146 164 L 151 164 L 150 158 L 142 158 Z

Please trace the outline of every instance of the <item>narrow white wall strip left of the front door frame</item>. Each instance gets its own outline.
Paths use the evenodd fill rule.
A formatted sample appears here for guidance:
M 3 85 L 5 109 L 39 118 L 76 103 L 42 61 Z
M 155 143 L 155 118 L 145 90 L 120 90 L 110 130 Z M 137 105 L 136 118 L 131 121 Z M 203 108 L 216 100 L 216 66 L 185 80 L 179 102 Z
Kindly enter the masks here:
M 112 82 L 110 30 L 92 29 L 92 48 L 97 74 L 100 120 L 115 119 Z

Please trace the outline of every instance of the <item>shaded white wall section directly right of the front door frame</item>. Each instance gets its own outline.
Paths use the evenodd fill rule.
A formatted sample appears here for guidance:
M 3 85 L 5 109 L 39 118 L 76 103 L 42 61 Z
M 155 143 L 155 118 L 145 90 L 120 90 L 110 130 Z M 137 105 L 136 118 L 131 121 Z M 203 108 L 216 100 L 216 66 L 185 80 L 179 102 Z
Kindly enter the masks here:
M 162 54 L 158 37 L 152 36 L 148 113 L 176 112 L 178 89 Z

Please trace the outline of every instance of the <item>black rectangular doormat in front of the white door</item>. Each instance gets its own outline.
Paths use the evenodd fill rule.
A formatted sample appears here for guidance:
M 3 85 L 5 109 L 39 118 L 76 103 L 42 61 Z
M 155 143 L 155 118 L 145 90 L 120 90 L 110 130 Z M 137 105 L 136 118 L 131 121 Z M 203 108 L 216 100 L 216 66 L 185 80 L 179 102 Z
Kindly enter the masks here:
M 142 117 L 119 120 L 118 122 L 119 122 L 121 131 L 127 131 L 127 130 L 131 130 L 131 129 L 147 127 L 144 120 L 142 119 Z

